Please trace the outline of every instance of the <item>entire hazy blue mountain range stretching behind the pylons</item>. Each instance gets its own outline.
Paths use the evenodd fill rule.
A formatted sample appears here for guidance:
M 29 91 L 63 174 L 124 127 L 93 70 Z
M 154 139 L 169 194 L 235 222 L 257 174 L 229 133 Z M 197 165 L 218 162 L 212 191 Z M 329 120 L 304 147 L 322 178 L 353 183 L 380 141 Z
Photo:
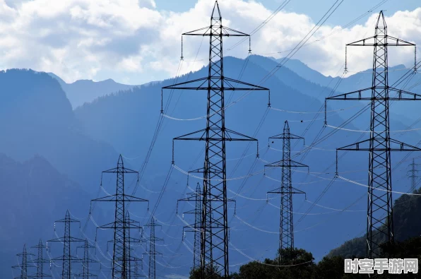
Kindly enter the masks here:
M 230 78 L 259 84 L 277 64 L 274 59 L 260 56 L 251 56 L 248 61 L 226 57 L 224 71 Z M 389 75 L 391 83 L 405 73 L 404 67 L 391 68 Z M 42 209 L 42 206 L 49 203 L 41 205 L 40 201 L 28 204 L 28 200 L 22 199 L 16 203 L 10 201 L 2 203 L 1 210 L 4 212 L 11 210 L 10 207 L 15 210 L 11 210 L 16 212 L 13 220 L 25 220 L 21 226 L 11 225 L 7 232 L 4 232 L 4 235 L 22 235 L 10 243 L 9 248 L 4 251 L 4 257 L 16 259 L 13 254 L 21 251 L 26 235 L 28 244 L 36 242 L 40 237 L 45 238 L 46 232 L 43 231 L 34 231 L 32 234 L 30 228 L 33 222 L 42 222 L 45 224 L 42 227 L 46 230 L 49 228 L 49 232 L 52 233 L 51 225 L 48 227 L 47 224 L 53 224 L 54 220 L 63 218 L 65 208 L 78 217 L 86 218 L 89 200 L 96 198 L 100 191 L 102 170 L 114 167 L 118 154 L 124 156 L 128 167 L 140 170 L 161 119 L 158 138 L 135 194 L 150 200 L 152 208 L 158 201 L 162 186 L 166 185 L 155 212 L 157 221 L 162 225 L 162 230 L 157 231 L 157 235 L 165 239 L 165 244 L 157 247 L 165 255 L 157 259 L 157 271 L 167 278 L 177 278 L 174 274 L 187 275 L 192 255 L 189 249 L 185 249 L 183 243 L 191 249 L 192 236 L 187 234 L 186 241 L 182 242 L 182 226 L 186 225 L 183 218 L 186 222 L 192 220 L 189 216 L 182 215 L 182 212 L 188 210 L 191 205 L 180 204 L 177 210 L 177 198 L 185 196 L 186 191 L 190 191 L 188 186 L 194 188 L 201 180 L 190 177 L 187 186 L 187 177 L 179 170 L 201 167 L 203 144 L 198 142 L 187 145 L 184 142 L 176 142 L 173 166 L 172 138 L 203 129 L 206 125 L 206 119 L 203 118 L 206 114 L 206 94 L 188 90 L 182 92 L 164 90 L 163 102 L 166 109 L 165 115 L 162 116 L 161 88 L 206 75 L 207 69 L 204 67 L 197 72 L 177 78 L 132 86 L 121 85 L 112 80 L 76 81 L 67 84 L 52 73 L 37 73 L 30 70 L 12 69 L 0 72 L 0 84 L 4 88 L 4 102 L 0 105 L 0 128 L 3 133 L 0 138 L 0 152 L 5 154 L 7 160 L 4 160 L 8 162 L 7 164 L 16 166 L 16 169 L 22 167 L 21 164 L 40 165 L 43 166 L 39 167 L 40 173 L 52 173 L 54 170 L 55 175 L 63 179 L 60 183 L 56 182 L 58 178 L 41 182 L 36 179 L 31 180 L 28 174 L 28 181 L 33 183 L 32 189 L 46 185 L 57 191 L 49 196 L 54 204 L 59 205 L 57 212 L 52 210 L 49 214 L 44 214 L 45 209 Z M 319 260 L 331 249 L 364 231 L 367 189 L 340 179 L 336 179 L 332 184 L 330 182 L 336 169 L 334 149 L 353 143 L 360 136 L 367 137 L 367 133 L 326 127 L 324 113 L 319 112 L 322 112 L 320 109 L 323 109 L 324 98 L 328 95 L 371 86 L 369 76 L 368 73 L 356 73 L 340 80 L 323 76 L 300 61 L 289 61 L 262 84 L 271 90 L 271 107 L 267 105 L 266 92 L 226 93 L 227 104 L 231 104 L 226 109 L 227 128 L 254 136 L 260 143 L 259 158 L 256 158 L 256 146 L 247 149 L 247 143 L 227 144 L 229 195 L 237 199 L 236 215 L 231 206 L 229 212 L 232 243 L 230 263 L 234 265 L 232 271 L 235 271 L 240 263 L 250 260 L 244 254 L 253 259 L 273 258 L 278 248 L 279 196 L 271 196 L 266 203 L 266 192 L 278 188 L 280 182 L 276 180 L 280 179 L 280 170 L 269 170 L 265 175 L 262 170 L 267 162 L 279 160 L 282 155 L 278 151 L 282 148 L 282 143 L 276 141 L 268 143 L 268 137 L 282 133 L 285 120 L 289 121 L 292 133 L 304 136 L 305 145 L 302 142 L 292 143 L 292 152 L 295 160 L 309 165 L 310 169 L 309 172 L 295 171 L 293 175 L 295 187 L 307 193 L 306 197 L 300 195 L 294 197 L 295 245 L 312 251 L 316 260 Z M 340 86 L 336 88 L 338 82 Z M 417 84 L 416 75 L 407 86 L 410 88 L 415 84 Z M 414 86 L 413 89 L 416 92 L 419 87 Z M 328 111 L 334 110 L 328 112 L 328 124 L 339 126 L 345 119 L 362 109 L 363 105 L 362 102 L 350 104 L 328 102 Z M 404 130 L 411 124 L 417 124 L 419 116 L 413 107 L 416 106 L 393 104 L 392 130 Z M 369 112 L 364 112 L 346 128 L 364 130 L 368 126 Z M 260 127 L 258 133 L 256 127 Z M 411 131 L 394 133 L 393 136 L 415 145 L 416 138 L 419 138 L 420 134 Z M 312 143 L 316 145 L 310 152 L 300 152 Z M 400 153 L 393 154 L 392 163 L 396 164 L 403 159 L 403 156 Z M 366 153 L 352 155 L 347 153 L 343 158 L 340 157 L 338 170 L 349 179 L 366 183 L 367 158 Z M 407 179 L 400 175 L 401 172 L 405 173 L 408 164 L 403 162 L 396 170 L 398 175 L 393 175 L 396 191 L 408 190 Z M 244 179 L 249 173 L 254 175 Z M 16 171 L 8 174 L 11 177 L 22 178 L 26 175 L 17 174 Z M 170 174 L 168 183 L 164 184 L 167 174 Z M 107 177 L 103 180 L 103 186 L 110 193 L 115 187 L 113 179 L 114 177 Z M 134 191 L 136 180 L 130 177 L 126 182 L 128 191 Z M 73 185 L 73 188 L 66 190 L 67 184 Z M 4 182 L 3 185 L 4 189 L 14 190 L 20 189 L 19 187 L 25 183 L 15 179 L 13 182 Z M 71 193 L 67 194 L 66 200 L 64 193 L 70 191 L 69 189 Z M 235 194 L 237 191 L 238 195 Z M 13 192 L 11 195 L 19 196 L 18 193 Z M 319 199 L 321 193 L 325 194 Z M 62 200 L 69 202 L 61 203 Z M 342 210 L 354 202 L 353 206 Z M 317 206 L 311 208 L 312 203 L 316 203 Z M 309 209 L 312 210 L 306 214 Z M 28 210 L 36 214 L 30 218 L 30 222 L 28 222 Z M 112 206 L 111 208 L 102 206 L 95 211 L 93 217 L 95 220 L 98 219 L 97 222 L 111 222 L 109 220 L 111 213 Z M 131 213 L 142 224 L 148 218 L 148 211 L 145 208 L 133 208 Z M 7 219 L 5 222 L 11 220 Z M 88 237 L 94 239 L 95 226 L 92 223 L 88 232 L 86 233 Z M 80 232 L 75 233 L 78 237 L 83 237 Z M 109 237 L 107 234 L 98 235 L 98 242 L 106 241 L 107 237 Z M 109 266 L 105 254 L 106 246 L 102 245 L 101 248 L 104 255 L 100 253 L 97 257 Z M 141 250 L 138 253 L 141 254 Z M 9 266 L 2 267 L 1 274 L 9 276 Z

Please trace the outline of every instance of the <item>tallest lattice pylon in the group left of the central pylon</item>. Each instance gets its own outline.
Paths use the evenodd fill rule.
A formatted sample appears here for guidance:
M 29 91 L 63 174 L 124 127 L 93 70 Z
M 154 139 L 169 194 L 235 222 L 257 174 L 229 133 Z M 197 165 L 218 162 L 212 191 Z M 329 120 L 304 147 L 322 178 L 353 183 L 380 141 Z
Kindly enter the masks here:
M 140 260 L 131 256 L 130 244 L 141 243 L 141 239 L 130 237 L 130 230 L 141 230 L 141 227 L 137 225 L 138 222 L 129 218 L 129 211 L 126 208 L 128 205 L 126 205 L 126 203 L 148 202 L 148 200 L 124 194 L 124 174 L 138 174 L 138 172 L 124 167 L 124 162 L 121 155 L 119 156 L 117 167 L 115 167 L 114 169 L 105 170 L 102 172 L 102 174 L 104 173 L 117 174 L 116 194 L 105 196 L 102 198 L 96 198 L 92 200 L 91 203 L 96 201 L 109 201 L 115 203 L 114 222 L 110 222 L 106 225 L 97 227 L 97 229 L 114 230 L 114 239 L 112 240 L 112 243 L 114 245 L 112 254 L 112 278 L 128 279 L 131 276 L 131 261 Z

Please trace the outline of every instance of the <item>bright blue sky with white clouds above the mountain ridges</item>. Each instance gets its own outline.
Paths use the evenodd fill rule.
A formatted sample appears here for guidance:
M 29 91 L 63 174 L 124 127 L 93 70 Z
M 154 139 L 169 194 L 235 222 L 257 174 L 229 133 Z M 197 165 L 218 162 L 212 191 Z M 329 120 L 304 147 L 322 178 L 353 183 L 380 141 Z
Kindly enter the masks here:
M 219 0 L 223 24 L 251 32 L 283 1 Z M 285 56 L 335 1 L 291 0 L 251 36 L 253 53 Z M 373 35 L 380 9 L 386 10 L 389 35 L 421 46 L 419 0 L 386 1 L 340 30 L 381 2 L 344 0 L 309 40 L 314 43 L 293 58 L 335 76 L 344 63 L 345 44 Z M 179 66 L 182 32 L 209 25 L 213 4 L 213 0 L 0 0 L 0 68 L 53 72 L 68 83 L 112 78 L 141 84 L 169 78 Z M 224 43 L 225 56 L 247 57 L 247 42 L 230 49 L 235 42 L 237 39 L 229 38 Z M 207 51 L 206 38 L 186 37 L 181 72 L 200 69 L 206 64 Z M 421 49 L 418 52 L 421 57 Z M 368 47 L 352 48 L 348 54 L 351 72 L 372 64 L 372 49 Z M 393 49 L 389 64 L 410 66 L 413 48 Z

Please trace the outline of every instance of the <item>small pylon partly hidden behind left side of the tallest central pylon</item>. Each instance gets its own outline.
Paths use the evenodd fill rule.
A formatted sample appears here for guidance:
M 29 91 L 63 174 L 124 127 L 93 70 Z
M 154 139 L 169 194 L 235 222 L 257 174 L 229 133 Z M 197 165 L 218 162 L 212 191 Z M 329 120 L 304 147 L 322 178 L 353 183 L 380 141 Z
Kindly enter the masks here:
M 187 184 L 188 185 L 188 184 Z M 199 183 L 196 185 L 196 191 L 186 194 L 186 198 L 179 199 L 178 201 L 194 201 L 195 206 L 193 210 L 188 210 L 184 214 L 194 214 L 194 224 L 185 226 L 184 232 L 194 232 L 194 249 L 193 249 L 193 270 L 200 268 L 200 255 L 201 255 L 201 214 L 202 214 L 202 193 Z M 178 203 L 178 202 L 177 202 Z M 177 205 L 178 214 L 178 205 Z M 184 237 L 184 233 L 183 233 Z

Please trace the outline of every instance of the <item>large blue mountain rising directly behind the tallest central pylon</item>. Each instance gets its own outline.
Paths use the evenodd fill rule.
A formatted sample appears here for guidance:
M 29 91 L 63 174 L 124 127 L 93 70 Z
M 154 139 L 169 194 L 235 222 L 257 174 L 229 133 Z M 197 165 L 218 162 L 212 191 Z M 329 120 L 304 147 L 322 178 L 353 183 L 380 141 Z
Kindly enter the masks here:
M 242 59 L 225 57 L 225 76 L 240 77 L 242 81 L 259 84 L 268 71 L 276 66 L 275 61 L 259 56 L 250 57 L 247 66 L 243 67 L 245 63 Z M 242 69 L 244 69 L 244 73 L 240 74 Z M 207 76 L 206 67 L 200 71 L 179 76 L 177 79 L 171 78 L 99 97 L 93 102 L 77 107 L 74 112 L 90 138 L 105 141 L 114 146 L 137 170 L 148 153 L 150 141 L 153 138 L 158 119 L 160 119 L 162 86 L 190 81 L 203 76 Z M 350 236 L 357 235 L 364 227 L 366 220 L 365 207 L 367 205 L 364 198 L 367 196 L 365 194 L 367 189 L 345 183 L 340 179 L 336 179 L 333 183 L 330 182 L 335 173 L 335 148 L 353 143 L 360 137 L 364 139 L 367 134 L 324 127 L 324 114 L 316 112 L 324 105 L 324 97 L 331 93 L 331 90 L 302 78 L 290 69 L 281 68 L 261 85 L 271 90 L 270 109 L 266 105 L 268 95 L 265 92 L 225 93 L 226 104 L 232 103 L 225 110 L 228 129 L 253 136 L 256 127 L 263 119 L 259 133 L 255 136 L 260 143 L 259 158 L 256 159 L 254 145 L 244 153 L 247 143 L 227 143 L 229 197 L 237 199 L 237 215 L 233 215 L 232 210 L 229 213 L 230 239 L 232 245 L 235 245 L 230 247 L 230 264 L 235 266 L 232 268 L 233 271 L 238 268 L 239 263 L 250 260 L 242 253 L 254 259 L 272 258 L 276 253 L 279 199 L 274 196 L 271 198 L 275 199 L 266 203 L 266 192 L 279 187 L 280 182 L 274 182 L 272 179 L 280 179 L 280 170 L 268 170 L 263 176 L 263 167 L 267 162 L 280 160 L 282 153 L 271 148 L 280 150 L 282 142 L 270 143 L 271 148 L 268 148 L 266 142 L 269 136 L 282 133 L 286 119 L 290 123 L 291 132 L 303 135 L 307 146 L 316 141 L 318 144 L 315 147 L 320 148 L 312 149 L 303 157 L 299 152 L 304 148 L 302 142 L 292 143 L 295 160 L 302 160 L 304 164 L 310 166 L 308 174 L 306 170 L 302 170 L 302 172 L 297 170 L 293 177 L 293 184 L 302 191 L 306 191 L 308 198 L 295 196 L 296 246 L 312 251 L 316 260 L 320 260 L 328 251 L 338 247 Z M 241 101 L 239 98 L 242 98 Z M 169 267 L 185 266 L 180 268 L 177 273 L 186 275 L 189 273 L 189 265 L 186 263 L 191 262 L 191 254 L 184 249 L 181 242 L 182 226 L 186 225 L 182 220 L 183 218 L 186 218 L 184 220 L 186 222 L 192 220 L 187 215 L 182 217 L 182 212 L 191 209 L 191 205 L 179 203 L 179 208 L 176 209 L 177 198 L 184 197 L 185 192 L 191 191 L 196 182 L 201 182 L 200 176 L 196 175 L 190 177 L 189 186 L 186 186 L 187 179 L 183 172 L 201 167 L 203 143 L 189 142 L 187 144 L 184 141 L 175 141 L 174 167 L 172 167 L 172 138 L 204 128 L 206 125 L 206 117 L 203 117 L 206 114 L 206 93 L 196 90 L 174 90 L 174 92 L 164 90 L 163 103 L 165 106 L 167 102 L 169 105 L 165 109 L 166 117 L 160 124 L 158 138 L 136 194 L 142 198 L 148 198 L 151 204 L 155 204 L 160 196 L 162 186 L 165 185 L 166 188 L 160 197 L 160 206 L 155 213 L 158 222 L 162 225 L 162 232 L 157 232 L 157 236 L 160 235 L 166 239 L 165 245 L 167 246 L 160 247 L 160 250 L 174 258 L 160 261 L 161 268 L 158 272 L 161 275 L 169 275 Z M 360 108 L 352 107 L 328 114 L 329 124 L 338 126 L 348 118 L 348 115 L 355 114 Z M 275 109 L 280 109 L 280 111 Z M 329 109 L 331 107 L 328 107 Z M 266 110 L 268 114 L 264 117 Z M 408 127 L 401 121 L 401 118 L 395 117 L 395 114 L 391 115 L 391 129 L 406 129 Z M 312 119 L 315 119 L 314 123 L 311 122 Z M 368 119 L 369 112 L 365 112 L 346 127 L 365 129 Z M 417 136 L 417 132 L 396 134 L 396 138 L 410 144 L 415 144 L 414 137 Z M 367 182 L 368 154 L 345 154 L 344 158 L 340 157 L 339 172 L 345 172 L 343 175 L 349 179 L 362 181 L 362 183 Z M 239 158 L 244 160 L 239 160 Z M 397 153 L 393 154 L 392 160 L 396 163 L 402 158 L 403 154 Z M 256 166 L 251 169 L 254 163 Z M 245 179 L 244 182 L 244 177 L 247 176 L 249 170 L 254 175 Z M 164 184 L 167 174 L 169 174 L 168 183 Z M 397 180 L 395 177 L 393 179 Z M 407 184 L 401 183 L 395 189 L 403 191 L 406 187 Z M 235 196 L 234 193 L 239 189 L 242 191 L 239 192 L 239 196 Z M 317 200 L 319 194 L 325 189 L 326 194 Z M 307 209 L 314 202 L 319 206 L 312 208 L 310 214 L 307 215 Z M 349 210 L 340 210 L 352 203 L 355 205 L 348 208 Z M 233 206 L 230 208 L 232 209 Z M 333 209 L 323 208 L 324 206 Z M 176 212 L 178 215 L 175 214 Z M 346 233 L 344 233 L 345 230 Z M 191 235 L 187 234 L 185 239 L 187 240 L 184 244 L 190 245 L 191 248 L 191 244 L 189 244 Z M 253 239 L 252 243 L 250 239 Z M 180 256 L 179 253 L 182 255 Z

